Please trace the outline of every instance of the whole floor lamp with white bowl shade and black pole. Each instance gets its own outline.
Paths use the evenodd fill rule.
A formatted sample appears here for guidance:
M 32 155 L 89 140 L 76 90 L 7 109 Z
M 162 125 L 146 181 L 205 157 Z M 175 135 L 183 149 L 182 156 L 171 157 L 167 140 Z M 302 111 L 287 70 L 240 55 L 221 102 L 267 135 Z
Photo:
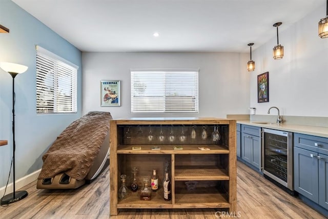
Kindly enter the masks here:
M 7 71 L 12 76 L 12 146 L 13 146 L 13 192 L 5 195 L 1 198 L 0 202 L 2 205 L 8 205 L 13 202 L 17 202 L 25 198 L 28 193 L 27 191 L 15 191 L 15 77 L 19 73 L 24 73 L 28 67 L 24 65 L 19 65 L 15 63 L 0 63 L 0 68 Z

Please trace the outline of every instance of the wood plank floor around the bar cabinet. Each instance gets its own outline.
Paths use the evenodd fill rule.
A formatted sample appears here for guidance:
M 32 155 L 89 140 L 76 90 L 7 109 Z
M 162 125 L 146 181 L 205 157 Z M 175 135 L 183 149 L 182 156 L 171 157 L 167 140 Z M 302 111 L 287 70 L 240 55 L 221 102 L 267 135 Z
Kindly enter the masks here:
M 70 190 L 37 190 L 33 182 L 22 190 L 29 195 L 8 207 L 0 218 L 109 218 L 109 167 L 90 185 Z M 237 162 L 237 214 L 234 218 L 326 218 L 289 195 L 259 173 Z M 215 209 L 124 210 L 113 219 L 225 218 Z M 233 217 L 233 216 L 231 216 Z

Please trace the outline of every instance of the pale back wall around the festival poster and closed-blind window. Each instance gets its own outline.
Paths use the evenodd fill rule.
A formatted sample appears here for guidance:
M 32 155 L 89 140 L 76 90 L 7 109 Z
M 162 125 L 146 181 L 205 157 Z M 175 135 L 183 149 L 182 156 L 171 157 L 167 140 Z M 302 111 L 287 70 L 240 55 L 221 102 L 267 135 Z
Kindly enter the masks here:
M 84 52 L 83 114 L 110 111 L 113 118 L 127 117 L 226 117 L 249 113 L 248 54 Z M 131 114 L 131 68 L 199 68 L 199 113 Z M 100 107 L 100 80 L 121 80 L 121 106 Z

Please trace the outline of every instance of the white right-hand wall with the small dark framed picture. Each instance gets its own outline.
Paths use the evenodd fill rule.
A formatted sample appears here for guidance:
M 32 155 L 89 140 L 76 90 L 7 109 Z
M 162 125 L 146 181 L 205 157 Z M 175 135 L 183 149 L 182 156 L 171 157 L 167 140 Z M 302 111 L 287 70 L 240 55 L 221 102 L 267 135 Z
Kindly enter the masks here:
M 284 46 L 280 60 L 272 58 L 277 44 L 274 27 L 271 41 L 253 51 L 256 70 L 251 73 L 250 106 L 257 114 L 267 114 L 276 106 L 282 115 L 328 116 L 328 38 L 318 36 L 318 22 L 324 16 L 325 8 L 320 7 L 292 28 L 279 31 L 279 43 Z M 266 71 L 270 102 L 257 103 L 257 75 Z

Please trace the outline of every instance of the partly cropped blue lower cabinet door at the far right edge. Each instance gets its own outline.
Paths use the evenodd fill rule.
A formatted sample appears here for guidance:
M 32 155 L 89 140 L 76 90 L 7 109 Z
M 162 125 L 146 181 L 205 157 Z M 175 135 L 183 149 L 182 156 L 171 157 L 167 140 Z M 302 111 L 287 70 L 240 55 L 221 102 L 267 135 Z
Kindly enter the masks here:
M 319 205 L 328 209 L 328 156 L 319 154 Z

